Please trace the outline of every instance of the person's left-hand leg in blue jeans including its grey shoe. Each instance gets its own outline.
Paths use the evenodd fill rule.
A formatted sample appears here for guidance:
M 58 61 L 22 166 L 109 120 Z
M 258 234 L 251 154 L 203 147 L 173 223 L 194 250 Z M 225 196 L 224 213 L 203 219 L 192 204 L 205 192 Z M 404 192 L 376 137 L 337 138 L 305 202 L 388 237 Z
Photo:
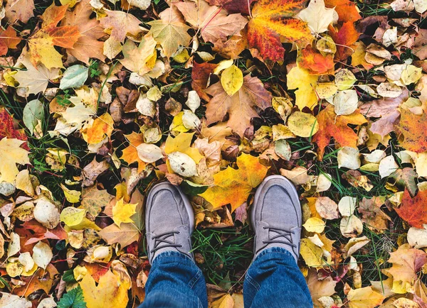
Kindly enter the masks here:
M 152 269 L 140 307 L 206 308 L 204 276 L 190 253 L 193 209 L 177 187 L 162 182 L 150 190 L 145 229 Z

